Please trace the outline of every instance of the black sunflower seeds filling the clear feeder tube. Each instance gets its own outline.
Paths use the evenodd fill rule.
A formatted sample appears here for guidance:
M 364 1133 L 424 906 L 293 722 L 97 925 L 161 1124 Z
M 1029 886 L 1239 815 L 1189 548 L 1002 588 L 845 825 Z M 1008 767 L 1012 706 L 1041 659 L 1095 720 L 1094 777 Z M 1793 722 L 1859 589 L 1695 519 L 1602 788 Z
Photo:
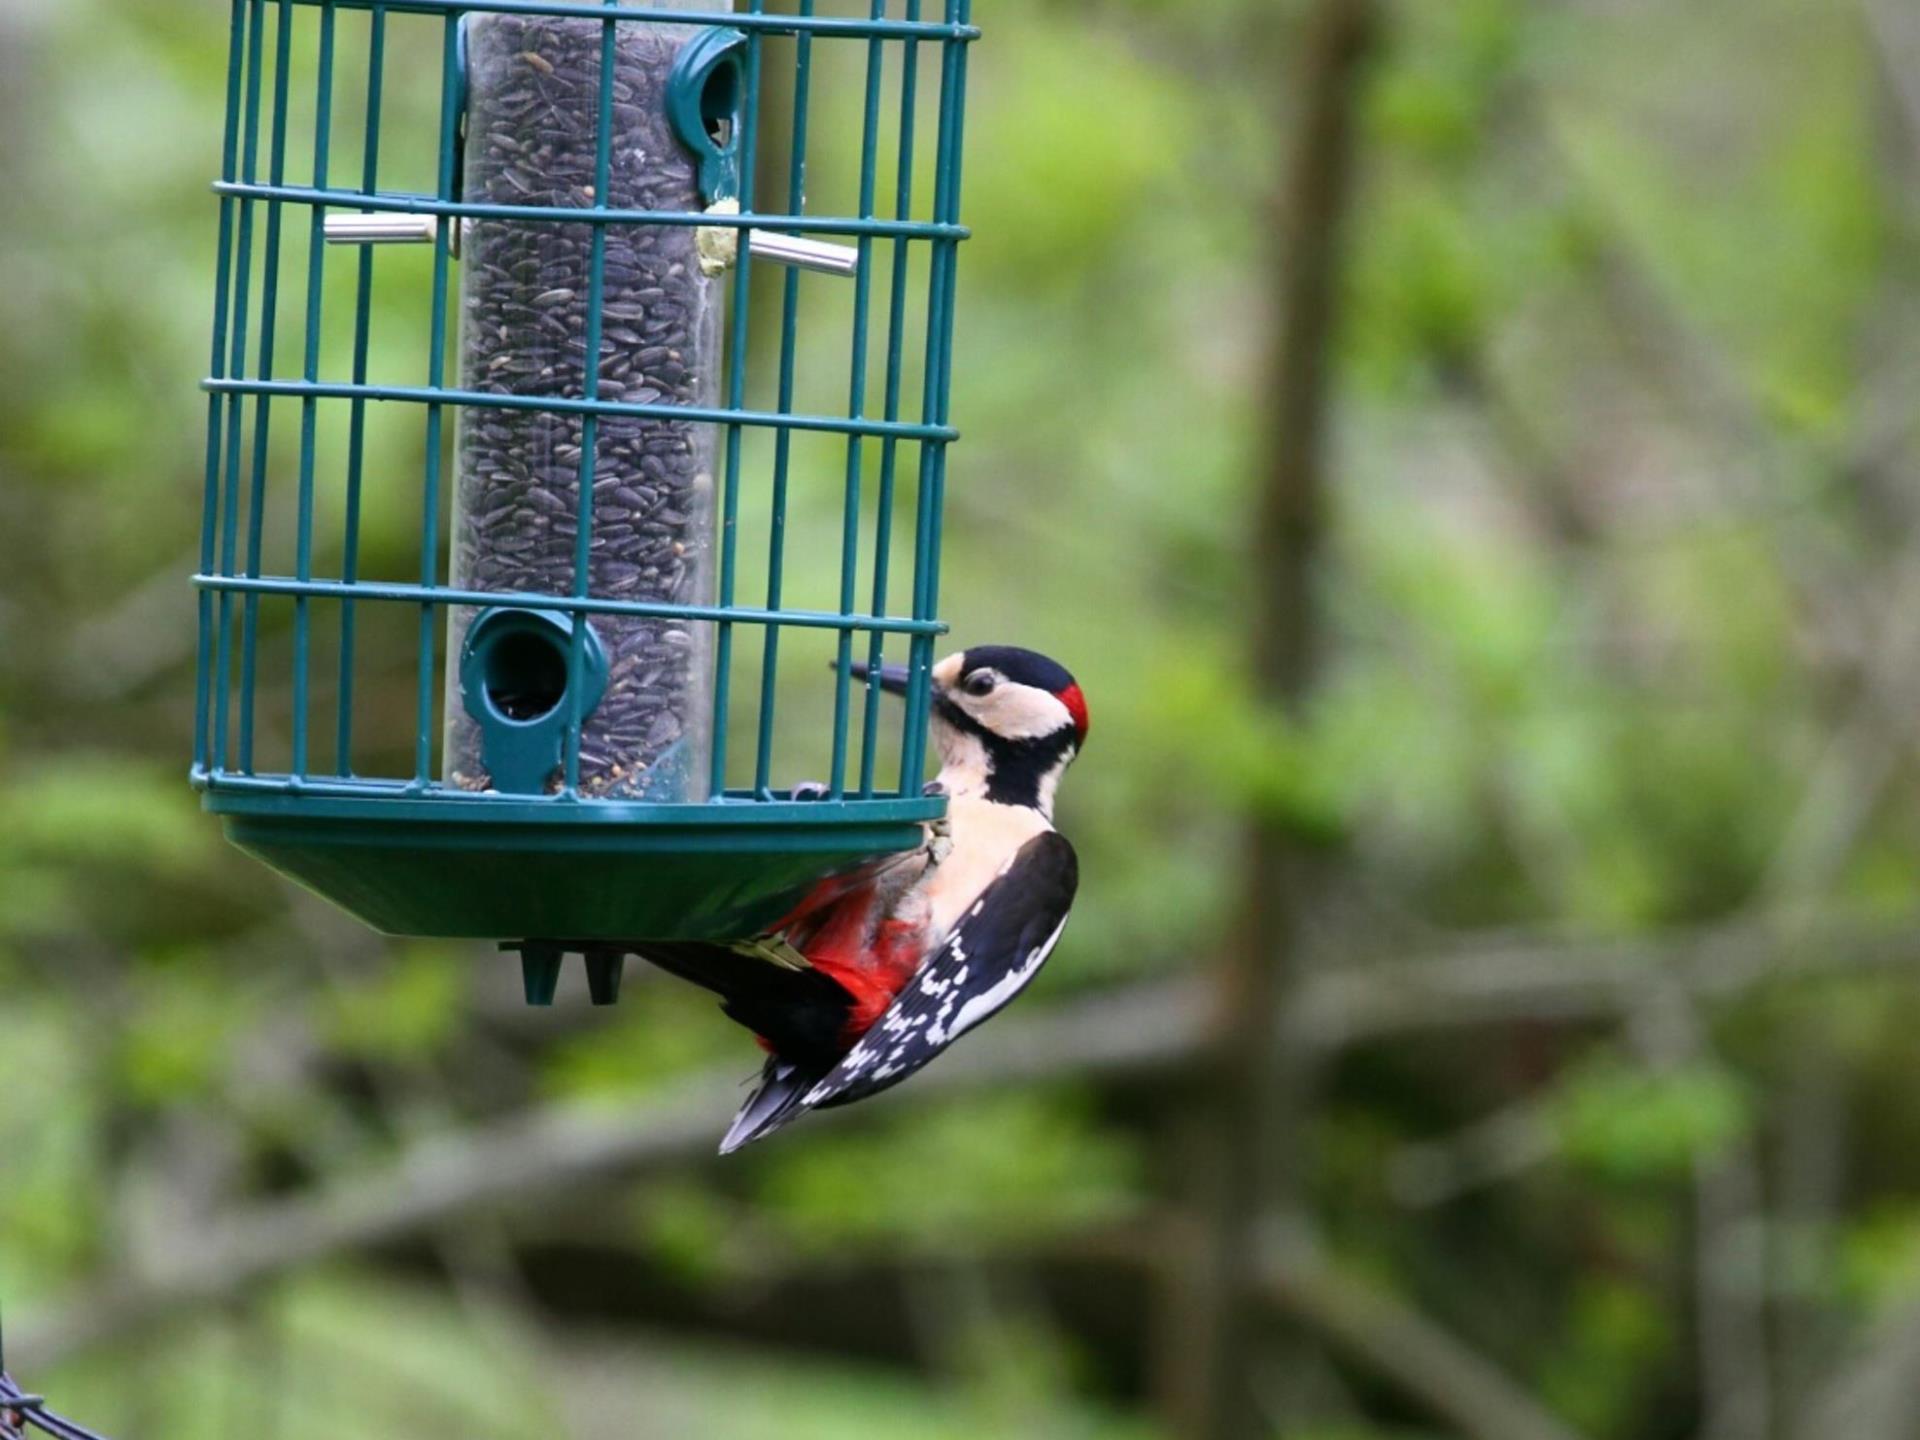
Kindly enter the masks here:
M 699 209 L 693 163 L 662 104 L 685 35 L 653 25 L 618 29 L 607 204 Z M 505 13 L 474 21 L 468 123 L 476 142 L 467 154 L 467 194 L 495 204 L 593 204 L 599 50 L 599 21 Z M 586 225 L 470 225 L 461 309 L 470 388 L 566 399 L 588 394 L 589 257 Z M 599 399 L 718 401 L 718 286 L 699 269 L 691 228 L 609 227 L 601 296 Z M 457 586 L 572 591 L 582 442 L 580 415 L 463 413 Z M 710 603 L 714 428 L 607 415 L 589 468 L 588 593 Z M 455 643 L 470 620 L 472 611 L 455 611 Z M 707 630 L 622 614 L 593 616 L 593 628 L 607 649 L 609 684 L 582 728 L 582 793 L 685 799 L 651 785 L 666 751 L 691 737 L 685 778 L 697 797 L 705 776 L 697 743 L 710 708 Z M 478 728 L 459 705 L 449 707 L 447 776 L 467 789 L 490 783 Z

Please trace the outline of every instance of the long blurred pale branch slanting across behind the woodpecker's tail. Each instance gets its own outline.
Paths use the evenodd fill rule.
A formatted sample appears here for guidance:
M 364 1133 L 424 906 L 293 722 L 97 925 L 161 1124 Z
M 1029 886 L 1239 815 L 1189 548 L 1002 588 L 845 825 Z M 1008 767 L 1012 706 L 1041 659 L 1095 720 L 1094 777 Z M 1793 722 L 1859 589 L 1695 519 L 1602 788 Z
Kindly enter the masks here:
M 1914 922 L 1738 927 L 1674 943 L 1507 945 L 1488 954 L 1317 975 L 1304 985 L 1296 1018 L 1309 1023 L 1313 1043 L 1338 1046 L 1434 1025 L 1619 1018 L 1663 973 L 1686 995 L 1724 1000 L 1763 983 L 1872 973 L 1916 960 Z M 900 1098 L 1050 1079 L 1119 1081 L 1185 1068 L 1204 1054 L 1210 998 L 1202 981 L 1165 981 L 1052 1014 L 1014 1016 L 968 1037 Z M 707 1073 L 624 1110 L 545 1106 L 419 1140 L 372 1173 L 236 1210 L 175 1236 L 142 1267 L 104 1275 L 71 1306 L 12 1331 L 10 1350 L 27 1369 L 38 1369 L 182 1306 L 232 1296 L 315 1260 L 390 1244 L 470 1210 L 707 1158 L 739 1079 L 735 1071 Z M 808 1123 L 843 1123 L 847 1114 Z

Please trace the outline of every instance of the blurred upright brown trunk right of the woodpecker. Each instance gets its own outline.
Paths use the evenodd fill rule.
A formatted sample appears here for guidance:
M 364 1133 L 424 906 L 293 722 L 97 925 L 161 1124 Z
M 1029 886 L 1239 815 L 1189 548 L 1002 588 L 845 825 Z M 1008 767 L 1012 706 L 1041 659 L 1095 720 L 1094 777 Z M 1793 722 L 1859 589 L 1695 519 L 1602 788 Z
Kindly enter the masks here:
M 1271 12 L 1267 12 L 1271 21 Z M 1261 472 L 1248 545 L 1248 672 L 1256 703 L 1298 718 L 1319 662 L 1327 447 L 1332 430 L 1334 338 L 1346 273 L 1344 232 L 1359 159 L 1359 104 L 1379 38 L 1373 0 L 1315 0 L 1296 54 L 1248 36 L 1250 71 L 1286 54 L 1292 115 L 1288 163 L 1271 198 L 1277 246 L 1269 255 L 1271 359 Z M 1244 822 L 1244 872 L 1229 950 L 1217 968 L 1219 1023 L 1208 1056 L 1210 1083 L 1181 1117 L 1192 1167 L 1183 1185 L 1202 1219 L 1196 1244 L 1169 1275 L 1181 1344 L 1167 1346 L 1165 1407 L 1181 1434 L 1240 1440 L 1286 1427 L 1263 1415 L 1256 1371 L 1260 1317 L 1248 1294 L 1248 1261 L 1263 1217 L 1304 1212 L 1292 1165 L 1302 1152 L 1304 1054 L 1284 1043 L 1286 1012 L 1300 989 L 1306 914 L 1315 893 L 1313 856 L 1273 814 Z M 1281 1396 L 1284 1407 L 1286 1396 Z

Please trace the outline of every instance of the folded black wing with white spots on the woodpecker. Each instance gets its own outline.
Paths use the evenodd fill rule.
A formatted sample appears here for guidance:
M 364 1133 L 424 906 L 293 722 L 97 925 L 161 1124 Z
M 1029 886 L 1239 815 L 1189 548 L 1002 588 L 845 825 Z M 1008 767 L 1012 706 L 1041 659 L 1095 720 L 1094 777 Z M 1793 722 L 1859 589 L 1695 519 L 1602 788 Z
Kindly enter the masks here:
M 1068 925 L 1079 858 L 1058 831 L 1020 847 L 860 1043 L 806 1092 L 808 1110 L 899 1085 L 1020 995 Z

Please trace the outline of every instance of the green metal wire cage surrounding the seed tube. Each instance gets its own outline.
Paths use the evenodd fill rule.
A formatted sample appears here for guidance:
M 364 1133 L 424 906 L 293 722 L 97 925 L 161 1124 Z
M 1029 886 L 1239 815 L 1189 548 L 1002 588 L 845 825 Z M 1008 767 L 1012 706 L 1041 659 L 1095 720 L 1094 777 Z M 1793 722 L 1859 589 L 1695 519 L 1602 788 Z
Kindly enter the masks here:
M 589 956 L 595 998 L 611 998 L 618 970 L 609 979 L 607 964 L 622 941 L 753 933 L 824 874 L 920 845 L 924 822 L 941 812 L 943 801 L 924 797 L 922 776 L 929 668 L 943 634 L 941 507 L 956 438 L 948 420 L 954 271 L 966 238 L 960 156 L 968 46 L 977 31 L 970 0 L 858 0 L 860 13 L 847 15 L 816 13 L 814 0 L 797 0 L 795 12 L 766 13 L 766 0 L 745 0 L 741 13 L 612 0 L 234 0 L 223 167 L 213 186 L 219 240 L 194 576 L 194 783 L 236 845 L 371 925 L 520 947 L 532 998 L 551 995 L 566 950 Z M 474 144 L 468 40 L 476 25 L 503 17 L 597 31 L 593 152 L 578 157 L 591 163 L 597 182 L 578 186 L 570 204 L 497 204 L 463 190 L 463 152 Z M 396 61 L 399 27 L 415 42 L 409 54 L 436 58 L 430 69 Z M 678 69 L 708 77 L 708 61 L 728 65 L 728 84 L 668 96 L 684 111 L 676 125 L 689 140 L 676 163 L 697 165 L 703 200 L 716 204 L 616 204 L 616 171 L 628 157 L 611 154 L 611 136 L 632 100 L 620 69 L 628 27 L 672 27 L 687 36 Z M 858 92 L 847 96 L 858 119 L 839 136 L 856 200 L 843 213 L 812 213 L 808 125 L 829 46 L 845 56 L 845 73 L 860 77 Z M 551 69 L 538 54 L 520 60 Z M 774 129 L 762 117 L 762 90 L 772 94 L 776 79 L 780 100 L 791 94 L 785 209 L 760 213 L 753 205 L 756 150 Z M 420 109 L 436 113 L 438 129 L 420 150 L 432 154 L 436 182 L 430 192 L 382 188 L 396 102 L 422 86 Z M 710 146 L 701 144 L 699 127 Z M 359 140 L 348 182 L 336 175 L 346 169 L 334 156 L 342 136 Z M 766 190 L 764 179 L 758 188 Z M 564 334 L 582 357 L 578 394 L 524 386 L 509 394 L 451 372 L 461 240 L 470 250 L 488 225 L 572 227 L 588 236 L 584 294 L 566 292 L 580 317 L 580 332 Z M 649 227 L 691 230 L 703 255 L 720 252 L 716 269 L 726 269 L 716 284 L 726 309 L 716 403 L 670 403 L 645 386 L 612 397 L 603 388 L 603 372 L 616 365 L 609 357 L 632 334 L 607 315 L 609 236 L 620 244 Z M 407 261 L 372 244 L 328 246 L 336 230 L 353 228 L 432 246 L 430 278 L 415 292 L 420 315 L 413 323 L 424 334 L 417 374 L 376 374 L 371 330 L 394 315 L 376 303 L 386 294 L 382 271 Z M 781 238 L 808 236 L 816 248 L 833 248 L 820 246 L 822 236 L 839 244 L 845 278 L 803 282 L 801 269 L 770 269 Z M 422 269 L 424 253 L 422 244 L 413 257 Z M 818 313 L 803 305 L 803 284 L 845 286 L 849 319 L 835 321 L 849 363 L 839 384 L 845 403 L 799 403 L 803 317 Z M 294 296 L 298 305 L 288 303 Z M 778 317 L 778 344 L 756 346 L 755 321 L 764 330 L 770 317 Z M 762 392 L 764 403 L 749 403 Z M 371 472 L 371 430 L 396 413 L 419 424 L 417 474 Z M 528 415 L 578 426 L 561 445 L 578 470 L 572 528 L 559 532 L 572 547 L 572 584 L 459 586 L 445 518 L 455 484 L 449 432 L 465 417 L 461 424 L 497 419 L 497 432 L 511 434 Z M 603 557 L 622 543 L 595 528 L 605 436 L 620 426 L 641 436 L 649 426 L 710 426 L 712 595 L 634 599 L 595 584 Z M 837 553 L 824 545 L 789 553 L 797 438 L 845 445 L 843 465 L 835 463 Z M 415 516 L 417 566 L 382 574 L 372 563 L 363 532 L 374 507 Z M 766 538 L 764 574 L 751 584 L 741 553 L 749 520 Z M 276 551 L 286 551 L 284 563 Z M 835 603 L 789 607 L 785 597 L 803 574 L 831 584 Z M 540 733 L 522 735 L 532 722 L 472 701 L 480 660 L 467 622 L 495 611 L 509 616 L 493 626 L 499 634 L 549 645 L 561 699 L 543 712 Z M 626 622 L 670 624 L 703 647 L 699 724 L 710 758 L 703 751 L 705 774 L 682 776 L 684 795 L 609 795 L 584 783 L 584 764 L 597 758 L 586 753 L 584 760 L 582 737 L 605 682 L 595 628 Z M 465 651 L 461 636 L 449 634 L 463 626 Z M 399 707 L 367 714 L 363 705 L 372 628 L 401 636 L 411 653 L 401 660 L 413 672 L 405 714 Z M 781 641 L 793 634 L 833 647 L 831 726 L 816 726 L 822 799 L 793 799 L 787 789 L 812 776 L 776 774 L 781 695 L 791 689 Z M 877 689 L 887 659 L 910 666 L 899 712 Z M 860 662 L 870 666 L 864 680 Z M 755 670 L 758 703 L 743 735 L 749 707 L 737 691 Z M 459 707 L 484 722 L 490 745 L 499 741 L 488 749 L 490 770 L 507 770 L 497 756 L 509 755 L 509 741 L 532 743 L 540 758 L 526 774 L 540 774 L 541 783 L 455 783 L 444 774 L 442 724 L 449 716 L 465 724 Z M 547 735 L 551 755 L 541 749 Z M 378 758 L 369 762 L 369 755 Z

